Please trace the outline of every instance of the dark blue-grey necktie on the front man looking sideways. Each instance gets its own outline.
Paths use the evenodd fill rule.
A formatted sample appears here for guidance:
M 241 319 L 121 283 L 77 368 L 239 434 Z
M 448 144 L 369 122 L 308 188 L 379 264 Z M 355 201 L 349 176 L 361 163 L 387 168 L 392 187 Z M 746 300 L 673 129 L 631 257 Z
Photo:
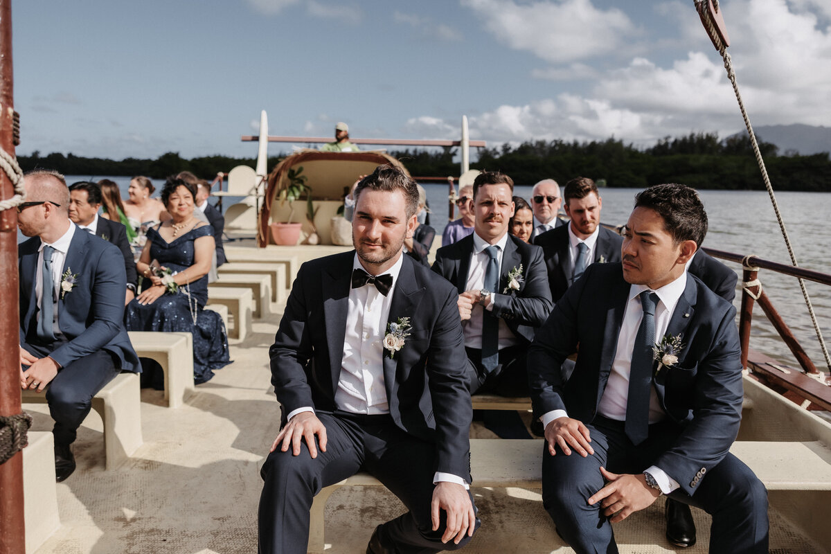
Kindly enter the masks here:
M 652 389 L 652 346 L 655 346 L 655 292 L 641 293 L 643 317 L 637 328 L 632 364 L 629 366 L 629 395 L 623 429 L 632 444 L 641 444 L 649 436 L 649 391 Z

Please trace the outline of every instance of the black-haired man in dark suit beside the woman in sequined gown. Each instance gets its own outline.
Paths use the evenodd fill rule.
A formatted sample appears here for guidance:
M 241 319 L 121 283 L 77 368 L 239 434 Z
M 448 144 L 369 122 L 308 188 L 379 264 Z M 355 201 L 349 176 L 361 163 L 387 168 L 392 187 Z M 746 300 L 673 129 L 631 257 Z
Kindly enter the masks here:
M 87 230 L 96 237 L 115 244 L 124 257 L 124 270 L 127 277 L 127 289 L 124 305 L 135 298 L 135 287 L 139 284 L 139 275 L 135 271 L 135 259 L 127 241 L 127 231 L 123 223 L 101 218 L 101 189 L 89 181 L 79 181 L 69 186 L 69 218 L 79 228 Z

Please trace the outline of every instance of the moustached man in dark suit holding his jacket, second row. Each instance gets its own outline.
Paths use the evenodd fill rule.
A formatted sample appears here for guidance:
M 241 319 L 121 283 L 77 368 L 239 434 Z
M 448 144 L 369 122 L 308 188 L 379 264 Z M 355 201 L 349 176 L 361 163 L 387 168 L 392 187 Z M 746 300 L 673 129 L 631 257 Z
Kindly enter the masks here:
M 433 271 L 459 292 L 471 394 L 528 395 L 525 352 L 552 307 L 543 251 L 508 233 L 513 196 L 508 175 L 477 175 L 474 233 L 435 254 Z

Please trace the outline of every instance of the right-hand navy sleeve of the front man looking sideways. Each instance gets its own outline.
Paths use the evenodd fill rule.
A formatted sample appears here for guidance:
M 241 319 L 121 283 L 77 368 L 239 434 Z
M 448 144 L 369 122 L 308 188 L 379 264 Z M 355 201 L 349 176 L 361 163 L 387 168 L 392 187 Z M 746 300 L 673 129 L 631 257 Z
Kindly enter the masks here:
M 733 306 L 715 325 L 709 351 L 695 367 L 685 370 L 696 371 L 692 420 L 654 464 L 692 494 L 696 473 L 702 468 L 709 471 L 724 459 L 739 433 L 744 388 Z

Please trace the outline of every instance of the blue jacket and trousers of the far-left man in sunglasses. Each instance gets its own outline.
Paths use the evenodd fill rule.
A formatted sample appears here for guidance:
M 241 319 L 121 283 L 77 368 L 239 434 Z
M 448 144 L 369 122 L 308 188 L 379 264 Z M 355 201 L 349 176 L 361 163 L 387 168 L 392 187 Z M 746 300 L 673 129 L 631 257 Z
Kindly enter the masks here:
M 30 238 L 17 247 L 20 275 L 20 345 L 37 357 L 50 356 L 61 369 L 47 390 L 55 419 L 55 443 L 71 444 L 76 429 L 89 413 L 92 397 L 119 370 L 140 371 L 122 321 L 124 316 L 124 259 L 111 243 L 76 228 L 66 261 L 60 269 L 77 274 L 71 291 L 58 297 L 61 335 L 45 344 L 37 337 L 38 248 Z

